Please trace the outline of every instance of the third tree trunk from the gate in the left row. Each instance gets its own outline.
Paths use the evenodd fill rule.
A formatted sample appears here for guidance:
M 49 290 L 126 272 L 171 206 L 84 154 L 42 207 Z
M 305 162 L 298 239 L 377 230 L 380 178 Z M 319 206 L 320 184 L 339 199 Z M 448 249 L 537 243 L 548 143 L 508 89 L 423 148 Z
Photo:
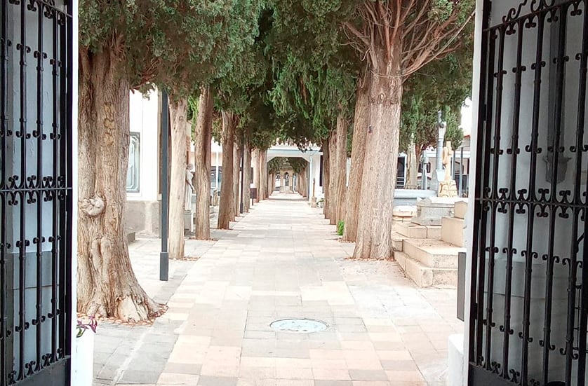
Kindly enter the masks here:
M 196 174 L 196 240 L 211 238 L 211 137 L 213 125 L 213 95 L 210 88 L 203 88 L 198 104 L 195 130 Z

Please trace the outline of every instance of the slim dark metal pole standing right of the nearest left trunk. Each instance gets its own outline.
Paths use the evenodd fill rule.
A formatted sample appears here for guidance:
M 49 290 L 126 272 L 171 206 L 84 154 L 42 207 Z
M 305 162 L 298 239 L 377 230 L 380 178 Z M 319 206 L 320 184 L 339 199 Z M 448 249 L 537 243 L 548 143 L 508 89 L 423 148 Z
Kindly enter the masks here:
M 169 278 L 168 252 L 168 135 L 169 106 L 166 90 L 161 91 L 161 253 L 159 254 L 159 280 L 167 282 Z

